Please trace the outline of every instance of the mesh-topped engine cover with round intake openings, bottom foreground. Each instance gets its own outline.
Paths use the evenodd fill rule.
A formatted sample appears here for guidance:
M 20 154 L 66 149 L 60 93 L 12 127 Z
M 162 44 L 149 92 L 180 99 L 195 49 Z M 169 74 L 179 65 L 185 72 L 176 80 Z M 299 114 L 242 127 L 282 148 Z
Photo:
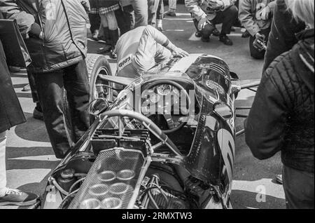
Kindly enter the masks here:
M 134 208 L 149 163 L 141 151 L 101 151 L 69 209 Z

